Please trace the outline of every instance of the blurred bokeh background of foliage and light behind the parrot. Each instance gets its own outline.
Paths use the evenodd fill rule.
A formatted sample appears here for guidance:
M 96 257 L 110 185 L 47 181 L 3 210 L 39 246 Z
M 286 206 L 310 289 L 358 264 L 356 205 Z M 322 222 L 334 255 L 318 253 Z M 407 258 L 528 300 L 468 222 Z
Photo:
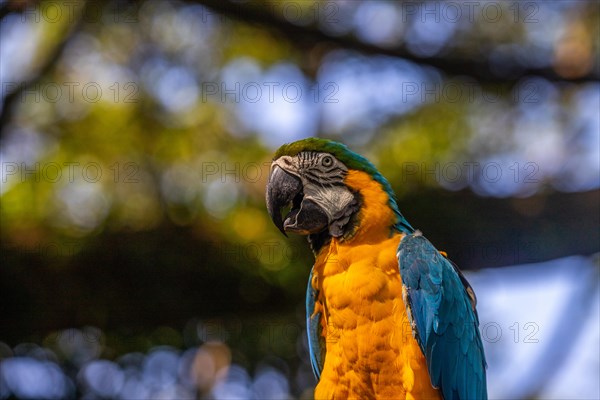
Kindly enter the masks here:
M 310 398 L 274 150 L 364 154 L 493 399 L 598 399 L 600 3 L 0 1 L 0 398 Z

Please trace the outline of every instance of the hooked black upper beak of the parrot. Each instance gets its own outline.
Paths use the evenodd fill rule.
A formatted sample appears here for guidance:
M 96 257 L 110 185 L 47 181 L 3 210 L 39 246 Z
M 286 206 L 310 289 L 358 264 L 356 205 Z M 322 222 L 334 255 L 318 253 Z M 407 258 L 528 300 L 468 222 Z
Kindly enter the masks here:
M 267 210 L 273 223 L 285 236 L 281 209 L 287 207 L 298 193 L 302 192 L 300 179 L 278 165 L 271 170 L 269 182 L 267 183 Z

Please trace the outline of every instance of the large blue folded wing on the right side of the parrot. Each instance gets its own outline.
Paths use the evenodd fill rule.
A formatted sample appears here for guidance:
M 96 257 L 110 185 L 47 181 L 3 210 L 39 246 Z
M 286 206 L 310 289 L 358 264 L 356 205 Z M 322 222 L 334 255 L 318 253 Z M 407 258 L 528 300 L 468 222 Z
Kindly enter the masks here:
M 398 248 L 400 275 L 433 386 L 445 400 L 487 399 L 479 319 L 456 266 L 420 234 Z

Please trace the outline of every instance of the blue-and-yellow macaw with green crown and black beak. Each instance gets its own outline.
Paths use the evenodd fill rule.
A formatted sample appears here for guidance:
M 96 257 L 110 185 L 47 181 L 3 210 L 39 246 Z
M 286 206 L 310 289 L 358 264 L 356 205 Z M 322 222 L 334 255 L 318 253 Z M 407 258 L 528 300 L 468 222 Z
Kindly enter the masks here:
M 306 291 L 315 399 L 487 399 L 473 288 L 346 145 L 282 145 L 266 206 L 315 256 Z M 285 214 L 285 215 L 282 215 Z

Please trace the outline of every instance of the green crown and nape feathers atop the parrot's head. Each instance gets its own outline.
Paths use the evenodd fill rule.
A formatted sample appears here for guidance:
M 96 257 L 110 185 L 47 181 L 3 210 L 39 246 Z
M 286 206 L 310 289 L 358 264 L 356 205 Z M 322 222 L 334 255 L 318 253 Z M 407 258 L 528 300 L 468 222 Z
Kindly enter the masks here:
M 385 192 L 388 194 L 389 205 L 397 216 L 396 228 L 404 233 L 414 232 L 414 228 L 398 210 L 398 204 L 396 203 L 391 185 L 369 160 L 359 154 L 356 154 L 341 143 L 320 138 L 308 138 L 298 140 L 293 143 L 284 144 L 277 150 L 273 159 L 276 160 L 281 156 L 293 157 L 303 151 L 329 153 L 339 161 L 343 162 L 348 169 L 363 171 L 369 174 L 375 181 L 381 184 Z

